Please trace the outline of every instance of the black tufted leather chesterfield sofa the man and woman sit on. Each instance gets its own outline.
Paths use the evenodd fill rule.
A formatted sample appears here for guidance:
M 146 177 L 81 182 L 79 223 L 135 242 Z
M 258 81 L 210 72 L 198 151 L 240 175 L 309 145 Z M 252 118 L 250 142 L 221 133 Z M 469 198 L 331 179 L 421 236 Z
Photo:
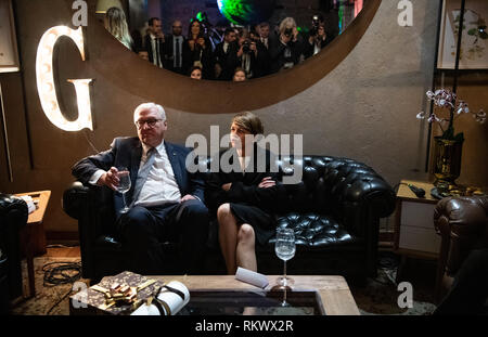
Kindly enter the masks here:
M 286 185 L 278 221 L 296 233 L 297 251 L 287 262 L 287 272 L 339 274 L 356 280 L 375 276 L 378 222 L 395 209 L 394 190 L 371 167 L 352 159 L 304 156 L 300 160 L 301 182 Z M 291 163 L 298 164 L 293 158 Z M 115 236 L 112 193 L 107 187 L 74 182 L 63 195 L 63 209 L 78 220 L 86 278 L 98 280 L 125 270 L 126 252 Z M 216 228 L 215 223 L 210 225 L 205 269 L 208 274 L 224 274 Z M 273 242 L 271 238 L 266 247 L 257 247 L 260 273 L 283 272 Z M 176 245 L 162 245 L 167 252 L 167 270 L 162 274 L 174 274 L 178 272 Z

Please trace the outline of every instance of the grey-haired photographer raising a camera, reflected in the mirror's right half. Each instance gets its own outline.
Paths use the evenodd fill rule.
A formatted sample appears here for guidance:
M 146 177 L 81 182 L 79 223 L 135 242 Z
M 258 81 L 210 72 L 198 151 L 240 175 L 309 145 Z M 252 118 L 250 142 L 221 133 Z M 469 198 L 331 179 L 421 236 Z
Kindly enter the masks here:
M 301 61 L 304 39 L 296 28 L 293 17 L 285 17 L 280 23 L 278 39 L 270 46 L 271 72 L 277 73 L 292 68 Z

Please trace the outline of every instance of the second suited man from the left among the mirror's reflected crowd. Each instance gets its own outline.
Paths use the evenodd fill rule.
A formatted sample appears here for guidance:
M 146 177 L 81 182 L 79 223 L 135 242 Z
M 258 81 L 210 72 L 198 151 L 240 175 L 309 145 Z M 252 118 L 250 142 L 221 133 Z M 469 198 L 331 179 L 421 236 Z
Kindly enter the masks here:
M 163 66 L 165 69 L 188 75 L 190 68 L 190 48 L 187 39 L 181 35 L 183 25 L 179 20 L 172 23 L 172 34 L 164 43 Z

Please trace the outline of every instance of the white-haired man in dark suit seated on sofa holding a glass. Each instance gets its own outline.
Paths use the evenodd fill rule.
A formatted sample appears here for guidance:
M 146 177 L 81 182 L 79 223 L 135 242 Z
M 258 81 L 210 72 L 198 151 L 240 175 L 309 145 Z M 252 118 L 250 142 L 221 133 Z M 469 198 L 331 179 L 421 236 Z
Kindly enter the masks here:
M 111 150 L 81 159 L 73 174 L 84 184 L 104 185 L 117 191 L 119 168 L 130 172 L 130 206 L 114 193 L 117 229 L 130 251 L 128 267 L 144 274 L 164 270 L 162 242 L 178 242 L 183 273 L 201 273 L 208 233 L 208 210 L 204 183 L 188 172 L 190 150 L 164 140 L 167 120 L 164 108 L 144 103 L 134 111 L 138 138 L 116 138 Z

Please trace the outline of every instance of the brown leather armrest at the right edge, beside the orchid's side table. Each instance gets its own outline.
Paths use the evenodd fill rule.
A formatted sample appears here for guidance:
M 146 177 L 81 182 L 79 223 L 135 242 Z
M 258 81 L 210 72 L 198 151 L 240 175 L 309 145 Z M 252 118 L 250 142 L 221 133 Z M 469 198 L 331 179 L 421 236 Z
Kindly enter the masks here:
M 434 209 L 439 263 L 454 275 L 471 250 L 488 247 L 488 196 L 446 197 Z

